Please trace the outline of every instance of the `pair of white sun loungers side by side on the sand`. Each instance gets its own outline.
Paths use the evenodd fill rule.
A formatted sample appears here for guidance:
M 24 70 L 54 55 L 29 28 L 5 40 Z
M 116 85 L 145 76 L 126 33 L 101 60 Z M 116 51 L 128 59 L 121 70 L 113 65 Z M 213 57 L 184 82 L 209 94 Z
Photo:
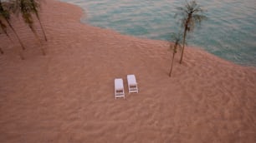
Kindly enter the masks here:
M 135 75 L 127 75 L 127 82 L 128 82 L 129 93 L 131 93 L 131 92 L 138 93 L 139 92 Z M 115 99 L 117 97 L 125 98 L 124 81 L 122 78 L 115 78 Z

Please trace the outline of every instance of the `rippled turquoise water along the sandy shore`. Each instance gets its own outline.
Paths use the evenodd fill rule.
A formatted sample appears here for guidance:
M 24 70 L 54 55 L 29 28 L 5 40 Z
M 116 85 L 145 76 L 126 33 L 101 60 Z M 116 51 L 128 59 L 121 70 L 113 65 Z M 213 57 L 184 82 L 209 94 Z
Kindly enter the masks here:
M 180 26 L 179 0 L 61 0 L 84 8 L 82 22 L 136 37 L 169 41 Z M 196 27 L 187 44 L 245 66 L 256 67 L 256 0 L 197 0 L 207 21 Z M 203 60 L 203 59 L 202 59 Z

